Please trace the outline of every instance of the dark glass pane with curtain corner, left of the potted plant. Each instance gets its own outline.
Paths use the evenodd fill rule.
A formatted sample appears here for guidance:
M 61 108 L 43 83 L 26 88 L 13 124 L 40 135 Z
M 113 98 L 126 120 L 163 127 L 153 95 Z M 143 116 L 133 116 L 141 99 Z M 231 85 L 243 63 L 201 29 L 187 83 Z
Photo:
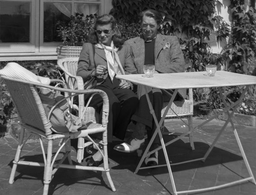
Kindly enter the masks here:
M 71 3 L 44 3 L 44 42 L 61 42 L 56 24 L 68 21 L 71 13 Z

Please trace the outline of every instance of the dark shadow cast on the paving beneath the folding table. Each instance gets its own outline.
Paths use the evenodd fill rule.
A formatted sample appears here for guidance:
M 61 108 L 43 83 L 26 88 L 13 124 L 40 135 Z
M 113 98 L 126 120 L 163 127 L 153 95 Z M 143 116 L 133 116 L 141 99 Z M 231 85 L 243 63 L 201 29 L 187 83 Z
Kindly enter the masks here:
M 164 142 L 168 142 L 172 139 L 174 139 L 176 136 L 164 136 Z M 134 172 L 137 164 L 140 161 L 140 157 L 137 156 L 137 152 L 132 152 L 132 153 L 125 153 L 125 152 L 118 152 L 113 150 L 112 148 L 118 144 L 122 143 L 119 141 L 115 141 L 113 143 L 108 144 L 109 148 L 109 158 L 111 160 L 115 161 L 117 166 L 113 166 L 112 169 L 128 169 L 131 172 Z M 187 142 L 185 143 L 182 140 L 178 140 L 169 146 L 166 147 L 169 161 L 172 163 L 178 163 L 181 161 L 189 161 L 193 160 L 196 158 L 203 158 L 204 154 L 207 152 L 209 149 L 209 145 L 207 143 L 203 142 L 194 142 L 195 145 L 195 150 L 192 150 L 190 147 L 190 143 Z M 220 149 L 218 147 L 214 147 L 207 157 L 206 161 L 195 161 L 195 162 L 190 162 L 190 163 L 185 163 L 181 165 L 174 165 L 171 166 L 172 172 L 177 172 L 177 171 L 183 171 L 187 169 L 196 169 L 200 167 L 205 167 L 205 166 L 212 166 L 212 165 L 217 165 L 217 164 L 222 164 L 222 163 L 227 163 L 227 162 L 232 162 L 232 161 L 239 161 L 241 160 L 242 157 L 240 155 L 236 155 L 232 152 L 228 152 L 227 150 Z M 158 155 L 158 161 L 159 164 L 166 164 L 166 160 L 164 158 L 163 150 L 160 149 L 159 155 Z M 143 163 L 142 166 L 145 166 Z M 149 171 L 150 174 L 163 174 L 163 173 L 168 173 L 167 166 L 159 167 L 157 169 L 141 169 L 137 174 L 139 175 L 148 175 Z

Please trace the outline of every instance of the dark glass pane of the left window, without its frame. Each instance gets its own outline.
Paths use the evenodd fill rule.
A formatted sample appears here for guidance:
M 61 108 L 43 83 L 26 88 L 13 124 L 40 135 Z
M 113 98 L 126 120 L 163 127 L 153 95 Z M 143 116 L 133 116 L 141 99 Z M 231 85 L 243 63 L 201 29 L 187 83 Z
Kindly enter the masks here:
M 29 43 L 31 3 L 0 2 L 0 42 Z

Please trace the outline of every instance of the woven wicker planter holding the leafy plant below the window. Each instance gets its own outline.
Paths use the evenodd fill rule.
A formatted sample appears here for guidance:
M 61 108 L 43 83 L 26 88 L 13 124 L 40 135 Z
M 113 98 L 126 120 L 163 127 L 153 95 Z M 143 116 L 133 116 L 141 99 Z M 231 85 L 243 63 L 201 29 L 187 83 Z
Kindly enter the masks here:
M 82 46 L 58 46 L 58 59 L 64 57 L 79 57 L 81 50 Z

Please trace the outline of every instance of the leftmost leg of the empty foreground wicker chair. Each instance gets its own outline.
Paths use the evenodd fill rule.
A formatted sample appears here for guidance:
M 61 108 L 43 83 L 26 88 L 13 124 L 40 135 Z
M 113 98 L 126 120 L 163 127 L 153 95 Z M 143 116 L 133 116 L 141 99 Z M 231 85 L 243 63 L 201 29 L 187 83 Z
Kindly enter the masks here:
M 16 169 L 17 169 L 17 162 L 20 161 L 20 153 L 21 153 L 22 148 L 23 148 L 24 133 L 25 133 L 25 129 L 21 126 L 19 145 L 17 147 L 15 159 L 13 161 L 12 172 L 11 172 L 11 175 L 10 175 L 10 178 L 9 178 L 9 184 L 14 183 L 15 172 L 16 172 Z

